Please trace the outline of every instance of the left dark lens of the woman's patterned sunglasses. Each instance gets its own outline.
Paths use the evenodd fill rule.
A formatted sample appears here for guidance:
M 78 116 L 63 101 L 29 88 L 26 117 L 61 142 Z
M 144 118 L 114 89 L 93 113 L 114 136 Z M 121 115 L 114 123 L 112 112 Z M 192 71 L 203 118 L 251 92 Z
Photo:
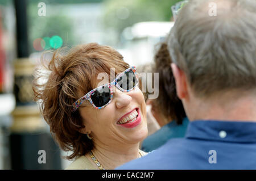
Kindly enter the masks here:
M 96 107 L 105 106 L 110 101 L 109 87 L 104 86 L 98 88 L 90 95 L 90 98 L 92 99 L 92 102 Z

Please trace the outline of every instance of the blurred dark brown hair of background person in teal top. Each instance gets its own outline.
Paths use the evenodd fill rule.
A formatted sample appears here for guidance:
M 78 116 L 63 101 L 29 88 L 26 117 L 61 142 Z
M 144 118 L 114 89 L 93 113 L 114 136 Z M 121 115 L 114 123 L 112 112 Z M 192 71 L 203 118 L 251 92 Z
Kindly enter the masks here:
M 159 48 L 154 56 L 153 71 L 159 73 L 159 96 L 154 103 L 159 108 L 159 112 L 165 117 L 171 117 L 177 124 L 182 124 L 186 113 L 176 93 L 174 74 L 172 74 L 171 69 L 172 59 L 168 51 L 168 45 L 165 41 L 158 45 Z

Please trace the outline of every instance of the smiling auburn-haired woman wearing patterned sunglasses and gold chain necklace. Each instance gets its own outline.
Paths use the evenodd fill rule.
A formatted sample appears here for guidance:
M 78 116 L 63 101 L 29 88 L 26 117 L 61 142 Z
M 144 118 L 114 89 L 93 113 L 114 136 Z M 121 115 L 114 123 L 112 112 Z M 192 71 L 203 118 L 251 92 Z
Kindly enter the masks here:
M 33 90 L 60 148 L 72 151 L 66 158 L 76 158 L 67 169 L 114 169 L 145 155 L 146 104 L 135 67 L 96 43 L 62 52 L 47 64 L 46 82 L 36 71 Z

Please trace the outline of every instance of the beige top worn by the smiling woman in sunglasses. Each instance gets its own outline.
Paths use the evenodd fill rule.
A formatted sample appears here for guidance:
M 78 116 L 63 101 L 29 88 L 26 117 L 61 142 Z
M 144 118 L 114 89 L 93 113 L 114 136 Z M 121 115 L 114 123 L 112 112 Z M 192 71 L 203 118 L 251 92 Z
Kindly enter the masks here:
M 146 155 L 147 153 L 139 150 L 139 153 L 141 153 L 142 157 Z M 98 167 L 96 164 L 92 161 L 90 156 L 87 154 L 86 156 L 82 155 L 75 159 L 65 170 L 97 170 Z

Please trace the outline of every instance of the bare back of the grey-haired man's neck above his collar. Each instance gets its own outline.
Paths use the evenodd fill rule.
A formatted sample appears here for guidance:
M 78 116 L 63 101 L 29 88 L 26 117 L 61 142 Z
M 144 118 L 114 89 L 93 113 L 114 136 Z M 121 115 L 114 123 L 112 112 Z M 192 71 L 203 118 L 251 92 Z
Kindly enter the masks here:
M 197 102 L 189 120 L 255 121 L 256 96 L 220 96 L 217 99 Z

